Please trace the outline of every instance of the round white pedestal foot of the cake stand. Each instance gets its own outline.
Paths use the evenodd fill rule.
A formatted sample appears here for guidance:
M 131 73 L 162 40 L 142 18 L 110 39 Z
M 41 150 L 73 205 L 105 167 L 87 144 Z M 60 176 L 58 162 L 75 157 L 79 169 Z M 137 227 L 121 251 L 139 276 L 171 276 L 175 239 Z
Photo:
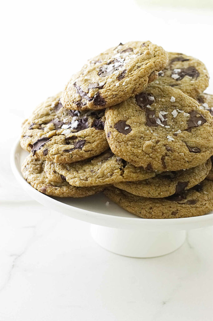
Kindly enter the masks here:
M 106 250 L 130 257 L 156 257 L 180 247 L 186 231 L 123 230 L 91 224 L 93 239 Z

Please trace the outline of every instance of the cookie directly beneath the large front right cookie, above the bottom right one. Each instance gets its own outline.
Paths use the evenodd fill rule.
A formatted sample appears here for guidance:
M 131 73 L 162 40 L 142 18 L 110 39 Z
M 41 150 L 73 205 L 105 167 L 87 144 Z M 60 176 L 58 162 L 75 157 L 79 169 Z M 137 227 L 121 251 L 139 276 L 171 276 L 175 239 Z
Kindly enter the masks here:
M 190 169 L 162 172 L 153 178 L 137 182 L 114 183 L 115 187 L 143 197 L 167 197 L 187 190 L 207 177 L 211 169 L 210 158 L 203 164 Z

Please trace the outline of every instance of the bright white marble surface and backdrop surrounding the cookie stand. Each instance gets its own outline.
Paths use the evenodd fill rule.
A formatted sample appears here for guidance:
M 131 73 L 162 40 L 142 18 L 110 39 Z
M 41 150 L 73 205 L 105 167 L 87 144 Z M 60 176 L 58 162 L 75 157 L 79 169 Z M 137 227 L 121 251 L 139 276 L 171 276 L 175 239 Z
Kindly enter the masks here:
M 212 321 L 212 228 L 191 231 L 168 256 L 116 256 L 92 241 L 88 224 L 30 199 L 9 153 L 35 106 L 120 42 L 195 56 L 212 76 L 213 12 L 38 0 L 4 1 L 0 15 L 0 321 Z

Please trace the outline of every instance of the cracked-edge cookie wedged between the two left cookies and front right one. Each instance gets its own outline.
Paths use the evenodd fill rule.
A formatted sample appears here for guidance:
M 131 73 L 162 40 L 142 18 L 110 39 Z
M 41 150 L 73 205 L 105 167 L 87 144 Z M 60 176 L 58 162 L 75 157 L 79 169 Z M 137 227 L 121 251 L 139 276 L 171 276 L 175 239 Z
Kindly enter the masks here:
M 51 180 L 61 182 L 62 179 L 66 179 L 69 184 L 82 187 L 142 180 L 157 174 L 127 163 L 110 150 L 92 159 L 72 164 L 46 161 L 45 173 Z

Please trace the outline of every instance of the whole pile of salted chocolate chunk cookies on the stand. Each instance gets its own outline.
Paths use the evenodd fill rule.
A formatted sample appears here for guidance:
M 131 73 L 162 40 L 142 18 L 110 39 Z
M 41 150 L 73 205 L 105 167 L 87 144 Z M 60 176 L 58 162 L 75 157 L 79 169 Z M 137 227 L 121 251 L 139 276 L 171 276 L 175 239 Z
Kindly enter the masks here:
M 142 218 L 213 209 L 213 96 L 205 65 L 150 41 L 90 59 L 24 122 L 23 177 L 38 191 L 103 191 Z M 98 198 L 97 198 L 98 200 Z

